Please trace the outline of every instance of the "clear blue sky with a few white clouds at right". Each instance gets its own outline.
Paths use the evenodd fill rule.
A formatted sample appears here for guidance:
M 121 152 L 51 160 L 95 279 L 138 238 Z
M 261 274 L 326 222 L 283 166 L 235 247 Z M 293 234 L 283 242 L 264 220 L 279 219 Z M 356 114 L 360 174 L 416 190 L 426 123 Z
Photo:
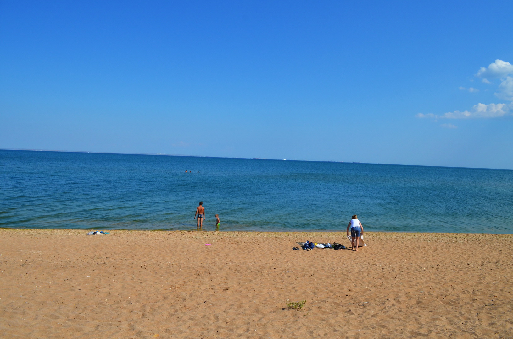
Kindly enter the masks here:
M 0 149 L 513 169 L 511 13 L 0 0 Z

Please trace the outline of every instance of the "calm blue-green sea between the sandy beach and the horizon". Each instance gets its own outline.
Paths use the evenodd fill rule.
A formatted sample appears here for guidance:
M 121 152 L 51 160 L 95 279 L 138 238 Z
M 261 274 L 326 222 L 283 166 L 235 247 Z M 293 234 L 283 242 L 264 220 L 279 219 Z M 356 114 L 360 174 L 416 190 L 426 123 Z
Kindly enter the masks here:
M 185 173 L 185 171 L 192 171 Z M 0 227 L 513 231 L 513 171 L 0 150 Z

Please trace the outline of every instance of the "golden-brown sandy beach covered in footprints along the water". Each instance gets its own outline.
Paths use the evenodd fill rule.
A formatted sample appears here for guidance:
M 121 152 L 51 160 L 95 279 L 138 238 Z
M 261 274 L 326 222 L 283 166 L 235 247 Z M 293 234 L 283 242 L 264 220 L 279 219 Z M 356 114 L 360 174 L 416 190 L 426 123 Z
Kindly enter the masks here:
M 0 229 L 2 338 L 513 335 L 513 235 L 86 234 Z

